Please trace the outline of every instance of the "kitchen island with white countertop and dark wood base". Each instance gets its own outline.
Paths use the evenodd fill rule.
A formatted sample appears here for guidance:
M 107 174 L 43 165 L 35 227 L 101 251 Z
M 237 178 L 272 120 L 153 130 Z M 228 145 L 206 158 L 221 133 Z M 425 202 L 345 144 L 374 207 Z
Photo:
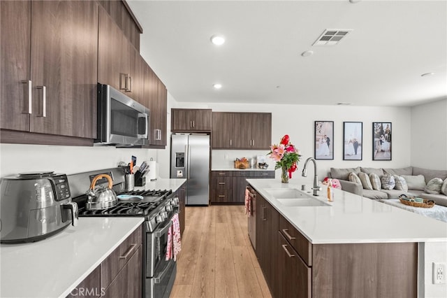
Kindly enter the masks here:
M 328 202 L 324 186 L 314 197 L 305 185 L 323 206 L 293 206 L 273 194 L 302 184 L 247 181 L 257 192 L 254 247 L 274 297 L 293 284 L 298 297 L 445 297 L 431 271 L 447 260 L 445 222 L 342 190 Z

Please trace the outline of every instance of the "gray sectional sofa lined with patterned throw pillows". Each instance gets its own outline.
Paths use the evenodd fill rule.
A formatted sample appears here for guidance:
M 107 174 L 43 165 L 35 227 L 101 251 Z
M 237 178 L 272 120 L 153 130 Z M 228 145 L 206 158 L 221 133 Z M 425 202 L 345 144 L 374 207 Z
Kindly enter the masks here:
M 342 185 L 342 190 L 346 192 L 351 192 L 353 194 L 358 194 L 362 197 L 367 197 L 369 199 L 395 199 L 400 194 L 406 194 L 407 196 L 422 197 L 423 199 L 433 200 L 437 205 L 447 206 L 447 196 L 445 194 L 428 194 L 424 190 L 410 189 L 407 192 L 403 190 L 366 190 L 363 188 L 362 184 L 353 183 L 349 181 L 349 173 L 376 173 L 379 177 L 386 173 L 397 176 L 418 176 L 423 175 L 425 178 L 425 183 L 428 183 L 432 178 L 441 178 L 445 180 L 447 178 L 447 170 L 430 170 L 418 168 L 416 166 L 408 166 L 402 169 L 381 169 L 381 168 L 347 168 L 347 169 L 337 169 L 330 168 L 330 177 L 336 178 L 340 181 Z

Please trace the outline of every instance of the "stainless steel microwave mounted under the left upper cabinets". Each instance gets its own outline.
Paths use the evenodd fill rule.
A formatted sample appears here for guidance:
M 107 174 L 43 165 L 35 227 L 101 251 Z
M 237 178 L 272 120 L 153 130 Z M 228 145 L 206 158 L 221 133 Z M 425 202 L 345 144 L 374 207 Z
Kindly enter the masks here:
M 95 145 L 149 144 L 149 108 L 118 90 L 98 83 L 98 126 Z

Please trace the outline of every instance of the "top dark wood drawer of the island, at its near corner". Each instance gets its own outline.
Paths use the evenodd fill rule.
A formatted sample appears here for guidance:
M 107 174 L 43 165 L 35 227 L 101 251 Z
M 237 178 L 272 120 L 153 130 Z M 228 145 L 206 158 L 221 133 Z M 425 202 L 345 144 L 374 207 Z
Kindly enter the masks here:
M 281 215 L 279 216 L 279 232 L 291 243 L 307 266 L 312 266 L 312 243 Z

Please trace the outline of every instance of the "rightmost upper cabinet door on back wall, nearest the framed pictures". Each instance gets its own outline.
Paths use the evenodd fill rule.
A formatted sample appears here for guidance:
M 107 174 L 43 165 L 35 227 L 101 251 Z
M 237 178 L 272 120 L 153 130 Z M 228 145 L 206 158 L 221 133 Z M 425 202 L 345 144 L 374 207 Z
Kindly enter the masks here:
M 251 147 L 268 149 L 272 142 L 272 114 L 254 113 L 252 115 Z

